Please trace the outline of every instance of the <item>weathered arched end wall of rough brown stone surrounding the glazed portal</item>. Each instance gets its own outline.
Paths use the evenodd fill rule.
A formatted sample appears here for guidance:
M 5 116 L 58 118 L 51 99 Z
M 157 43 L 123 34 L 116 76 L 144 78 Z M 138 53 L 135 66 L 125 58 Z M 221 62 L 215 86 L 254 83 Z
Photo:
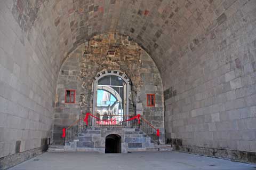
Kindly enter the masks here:
M 115 55 L 108 55 L 108 52 Z M 54 143 L 62 143 L 61 129 L 81 114 L 92 112 L 92 86 L 98 72 L 119 70 L 131 80 L 129 115 L 141 114 L 162 132 L 164 140 L 163 87 L 161 76 L 150 56 L 128 36 L 102 34 L 79 46 L 62 65 L 55 104 Z M 76 103 L 65 103 L 65 89 L 76 90 Z M 147 94 L 154 93 L 155 107 L 147 107 Z

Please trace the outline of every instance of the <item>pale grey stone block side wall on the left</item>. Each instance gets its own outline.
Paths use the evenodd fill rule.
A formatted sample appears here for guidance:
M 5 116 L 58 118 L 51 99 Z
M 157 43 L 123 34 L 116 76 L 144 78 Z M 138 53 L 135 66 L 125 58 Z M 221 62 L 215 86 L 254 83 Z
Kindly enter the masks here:
M 42 153 L 57 83 L 55 63 L 38 38 L 23 33 L 12 6 L 0 2 L 0 169 Z

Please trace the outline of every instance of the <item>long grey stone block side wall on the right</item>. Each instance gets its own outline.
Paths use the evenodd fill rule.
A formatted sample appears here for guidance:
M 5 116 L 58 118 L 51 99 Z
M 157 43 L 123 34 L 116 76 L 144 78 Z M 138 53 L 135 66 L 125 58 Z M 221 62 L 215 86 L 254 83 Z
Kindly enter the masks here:
M 178 150 L 255 162 L 256 3 L 211 5 L 211 27 L 198 18 L 196 34 L 185 33 L 189 44 L 168 52 L 172 60 L 160 69 L 170 77 L 163 78 L 166 139 Z

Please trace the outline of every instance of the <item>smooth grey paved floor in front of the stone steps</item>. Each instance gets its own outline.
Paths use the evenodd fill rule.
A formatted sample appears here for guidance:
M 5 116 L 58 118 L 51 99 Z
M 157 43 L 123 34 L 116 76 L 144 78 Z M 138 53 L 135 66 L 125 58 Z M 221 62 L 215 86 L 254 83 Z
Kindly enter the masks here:
M 256 165 L 179 152 L 137 152 L 100 154 L 89 152 L 46 152 L 11 170 L 150 170 L 150 169 L 239 169 L 255 170 Z

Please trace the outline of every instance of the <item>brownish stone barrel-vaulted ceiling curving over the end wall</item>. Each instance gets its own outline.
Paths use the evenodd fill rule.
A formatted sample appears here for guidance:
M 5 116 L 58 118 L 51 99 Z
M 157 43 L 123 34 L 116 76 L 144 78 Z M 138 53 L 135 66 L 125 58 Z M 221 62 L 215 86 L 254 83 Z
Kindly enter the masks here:
M 50 58 L 56 72 L 78 44 L 94 35 L 118 32 L 145 48 L 163 77 L 198 47 L 208 48 L 208 52 L 218 49 L 223 36 L 229 36 L 223 30 L 243 19 L 252 2 L 14 0 L 12 13 L 30 43 Z M 234 17 L 227 20 L 230 16 Z

